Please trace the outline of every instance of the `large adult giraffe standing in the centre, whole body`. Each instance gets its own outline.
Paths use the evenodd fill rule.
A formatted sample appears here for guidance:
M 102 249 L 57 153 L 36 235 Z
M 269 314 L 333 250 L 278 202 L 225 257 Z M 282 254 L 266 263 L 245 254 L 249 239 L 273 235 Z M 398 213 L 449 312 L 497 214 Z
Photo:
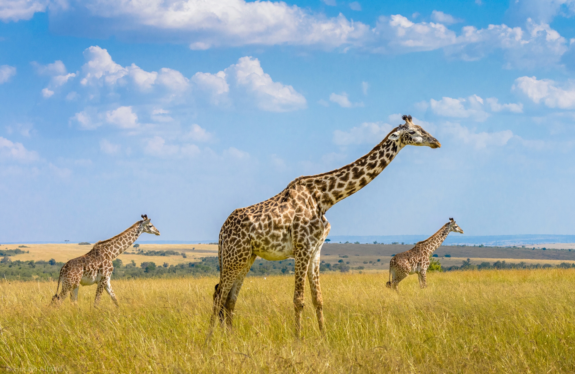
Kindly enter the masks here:
M 267 260 L 295 259 L 294 310 L 296 337 L 300 337 L 304 286 L 307 276 L 323 331 L 323 299 L 319 284 L 320 250 L 329 233 L 325 212 L 373 181 L 404 146 L 439 148 L 441 144 L 411 116 L 394 128 L 368 154 L 328 173 L 301 176 L 271 199 L 236 209 L 225 220 L 218 241 L 220 283 L 213 293 L 209 342 L 217 316 L 232 327 L 237 295 L 257 256 Z M 225 311 L 225 314 L 224 314 Z

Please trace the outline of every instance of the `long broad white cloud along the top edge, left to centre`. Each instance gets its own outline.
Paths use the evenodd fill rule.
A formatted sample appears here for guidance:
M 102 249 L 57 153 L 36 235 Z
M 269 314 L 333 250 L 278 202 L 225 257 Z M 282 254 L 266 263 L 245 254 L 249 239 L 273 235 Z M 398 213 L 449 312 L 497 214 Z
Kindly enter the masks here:
M 335 0 L 326 2 L 335 5 Z M 328 18 L 281 1 L 87 0 L 74 7 L 54 3 L 51 12 L 51 27 L 62 32 L 70 27 L 83 29 L 88 22 L 93 37 L 121 33 L 125 37 L 145 35 L 157 41 L 175 38 L 200 50 L 249 44 L 337 47 L 370 32 L 369 25 L 347 20 L 343 15 Z M 78 14 L 83 15 L 82 20 Z

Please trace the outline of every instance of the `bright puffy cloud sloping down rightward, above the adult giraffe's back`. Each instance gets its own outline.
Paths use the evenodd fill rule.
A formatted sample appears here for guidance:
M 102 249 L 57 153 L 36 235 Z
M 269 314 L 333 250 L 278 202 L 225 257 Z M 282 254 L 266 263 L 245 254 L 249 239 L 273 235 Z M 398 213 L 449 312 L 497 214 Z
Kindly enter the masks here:
M 236 85 L 243 87 L 256 98 L 256 106 L 269 112 L 287 112 L 306 107 L 305 97 L 292 86 L 274 82 L 263 72 L 259 60 L 242 57 L 237 64 L 225 69 L 225 74 L 235 79 Z

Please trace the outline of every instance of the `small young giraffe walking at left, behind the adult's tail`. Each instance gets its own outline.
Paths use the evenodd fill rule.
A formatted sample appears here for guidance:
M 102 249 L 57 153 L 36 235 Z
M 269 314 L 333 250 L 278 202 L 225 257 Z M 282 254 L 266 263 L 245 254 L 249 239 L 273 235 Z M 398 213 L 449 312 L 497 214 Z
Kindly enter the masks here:
M 160 235 L 158 229 L 150 223 L 148 215 L 142 215 L 141 217 L 141 221 L 136 222 L 120 234 L 103 242 L 99 241 L 95 243 L 92 250 L 85 255 L 72 258 L 66 262 L 66 264 L 62 266 L 62 269 L 60 269 L 56 295 L 52 297 L 52 304 L 55 303 L 56 300 L 63 300 L 68 292 L 70 292 L 72 302 L 77 302 L 78 288 L 80 285 L 89 286 L 97 283 L 98 287 L 96 288 L 94 307 L 99 303 L 104 289 L 106 289 L 108 295 L 112 297 L 112 300 L 114 300 L 114 303 L 118 306 L 116 295 L 114 295 L 114 291 L 112 291 L 112 287 L 110 286 L 110 276 L 114 270 L 114 266 L 112 266 L 113 259 L 128 249 L 143 232 Z M 58 295 L 60 283 L 62 283 L 62 291 L 60 295 Z

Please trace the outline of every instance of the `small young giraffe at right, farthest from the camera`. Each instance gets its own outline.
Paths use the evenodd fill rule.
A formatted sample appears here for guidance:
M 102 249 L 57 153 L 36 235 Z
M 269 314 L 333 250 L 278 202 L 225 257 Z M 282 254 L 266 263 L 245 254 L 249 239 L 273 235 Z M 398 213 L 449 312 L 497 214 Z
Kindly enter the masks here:
M 463 230 L 457 226 L 453 218 L 450 218 L 449 222 L 444 224 L 435 234 L 424 241 L 417 242 L 412 249 L 394 255 L 392 261 L 389 261 L 389 281 L 385 285 L 399 292 L 398 284 L 401 280 L 409 274 L 417 273 L 419 287 L 427 287 L 425 273 L 430 266 L 430 256 L 439 248 L 451 231 L 463 234 Z

